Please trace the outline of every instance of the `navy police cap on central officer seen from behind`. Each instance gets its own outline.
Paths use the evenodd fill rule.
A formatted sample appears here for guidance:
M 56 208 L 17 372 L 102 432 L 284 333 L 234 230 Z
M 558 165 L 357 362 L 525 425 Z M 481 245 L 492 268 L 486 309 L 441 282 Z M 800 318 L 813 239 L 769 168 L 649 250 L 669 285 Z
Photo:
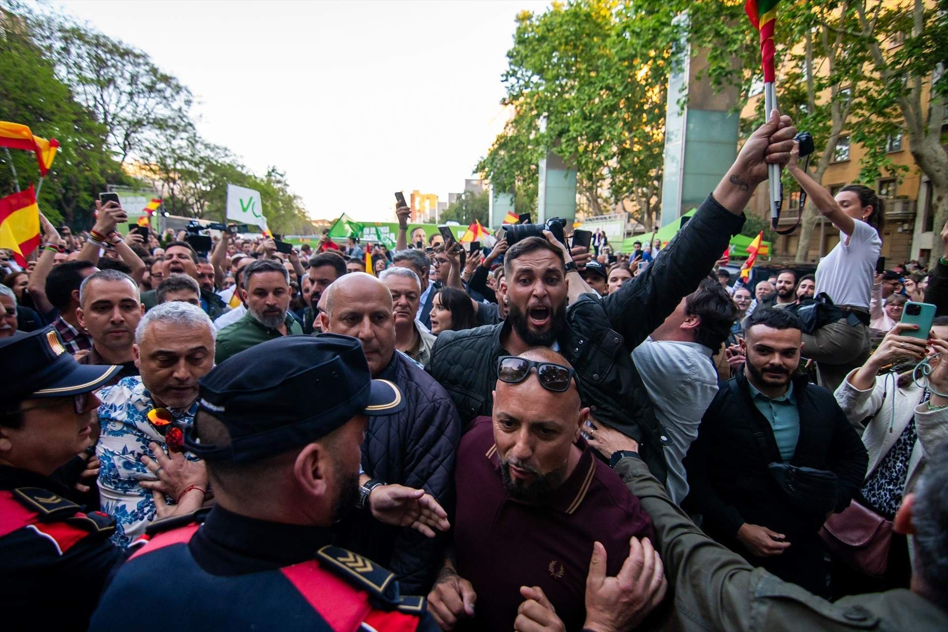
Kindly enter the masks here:
M 236 353 L 201 378 L 198 411 L 224 424 L 229 445 L 185 447 L 207 460 L 253 461 L 317 441 L 358 414 L 391 415 L 401 391 L 374 380 L 362 346 L 348 335 L 285 335 Z

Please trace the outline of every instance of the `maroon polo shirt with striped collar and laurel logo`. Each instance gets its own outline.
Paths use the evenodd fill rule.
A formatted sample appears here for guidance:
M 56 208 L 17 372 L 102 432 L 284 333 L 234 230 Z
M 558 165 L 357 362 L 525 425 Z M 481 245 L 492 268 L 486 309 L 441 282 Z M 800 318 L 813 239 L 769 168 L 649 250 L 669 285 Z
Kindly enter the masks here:
M 573 473 L 540 506 L 507 496 L 489 417 L 474 420 L 461 438 L 454 550 L 458 574 L 477 593 L 475 620 L 464 629 L 512 629 L 523 602 L 520 587 L 538 586 L 566 629 L 578 630 L 593 542 L 606 548 L 608 574 L 615 575 L 632 535 L 655 541 L 638 498 L 582 438 L 576 445 L 583 453 Z

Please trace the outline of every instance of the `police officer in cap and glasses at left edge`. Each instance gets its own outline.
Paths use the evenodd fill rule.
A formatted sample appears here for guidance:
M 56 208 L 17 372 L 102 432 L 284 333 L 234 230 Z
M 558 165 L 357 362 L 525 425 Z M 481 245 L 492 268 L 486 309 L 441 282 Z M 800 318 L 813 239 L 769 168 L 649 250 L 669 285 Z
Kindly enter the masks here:
M 89 448 L 121 367 L 81 365 L 51 328 L 0 343 L 0 610 L 5 629 L 85 629 L 121 557 L 114 520 L 50 479 Z

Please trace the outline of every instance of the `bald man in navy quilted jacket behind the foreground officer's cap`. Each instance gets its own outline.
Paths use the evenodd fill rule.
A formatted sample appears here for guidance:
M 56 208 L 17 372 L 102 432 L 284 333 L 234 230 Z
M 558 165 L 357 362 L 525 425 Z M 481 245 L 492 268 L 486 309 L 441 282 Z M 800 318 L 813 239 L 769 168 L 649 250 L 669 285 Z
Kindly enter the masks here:
M 454 460 L 461 419 L 447 391 L 420 365 L 395 350 L 392 293 L 372 275 L 353 272 L 334 281 L 319 298 L 323 332 L 358 338 L 376 380 L 398 386 L 406 406 L 369 422 L 362 443 L 360 482 L 375 480 L 424 489 L 443 507 L 454 499 Z M 375 560 L 398 577 L 402 594 L 424 595 L 444 560 L 446 538 L 426 538 L 410 527 L 383 525 L 353 513 L 337 525 L 339 546 Z

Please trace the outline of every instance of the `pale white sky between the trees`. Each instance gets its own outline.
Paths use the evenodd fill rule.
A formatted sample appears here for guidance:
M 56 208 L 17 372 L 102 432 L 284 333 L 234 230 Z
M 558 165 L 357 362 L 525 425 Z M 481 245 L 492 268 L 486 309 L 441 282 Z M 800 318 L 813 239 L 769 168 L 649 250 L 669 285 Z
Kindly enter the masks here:
M 546 2 L 62 3 L 191 88 L 198 128 L 276 165 L 314 218 L 464 190 L 505 120 L 514 17 Z

